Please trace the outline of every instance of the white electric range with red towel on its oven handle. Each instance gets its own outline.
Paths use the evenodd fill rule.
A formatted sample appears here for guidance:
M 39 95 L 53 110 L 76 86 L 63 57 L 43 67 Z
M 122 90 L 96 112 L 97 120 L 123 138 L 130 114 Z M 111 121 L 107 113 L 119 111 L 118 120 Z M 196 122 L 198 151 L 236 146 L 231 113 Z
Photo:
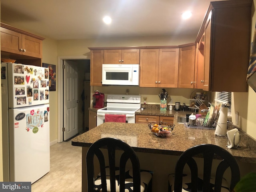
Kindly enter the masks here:
M 97 126 L 105 122 L 105 114 L 125 114 L 127 123 L 135 123 L 140 100 L 139 95 L 108 95 L 107 106 L 97 110 Z

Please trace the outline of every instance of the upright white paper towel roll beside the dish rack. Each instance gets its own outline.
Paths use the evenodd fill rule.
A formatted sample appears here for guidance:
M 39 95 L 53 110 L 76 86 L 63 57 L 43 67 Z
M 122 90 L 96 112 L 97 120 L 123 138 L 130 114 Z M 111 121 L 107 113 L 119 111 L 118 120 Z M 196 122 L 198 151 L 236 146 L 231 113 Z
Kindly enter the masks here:
M 220 109 L 220 116 L 215 129 L 215 135 L 226 136 L 227 134 L 227 121 L 228 121 L 228 108 L 222 107 Z

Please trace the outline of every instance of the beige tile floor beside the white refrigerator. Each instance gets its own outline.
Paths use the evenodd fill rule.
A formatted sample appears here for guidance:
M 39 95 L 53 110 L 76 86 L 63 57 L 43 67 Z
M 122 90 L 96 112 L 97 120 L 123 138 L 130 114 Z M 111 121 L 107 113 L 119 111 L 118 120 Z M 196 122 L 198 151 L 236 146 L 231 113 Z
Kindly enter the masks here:
M 50 172 L 34 182 L 32 192 L 81 192 L 82 147 L 71 141 L 50 146 Z

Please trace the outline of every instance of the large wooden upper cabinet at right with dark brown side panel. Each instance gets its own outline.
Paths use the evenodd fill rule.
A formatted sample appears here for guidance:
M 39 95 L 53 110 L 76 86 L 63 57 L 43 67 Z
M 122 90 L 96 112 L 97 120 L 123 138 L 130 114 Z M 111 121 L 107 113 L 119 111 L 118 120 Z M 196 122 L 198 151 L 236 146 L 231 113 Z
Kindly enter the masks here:
M 211 2 L 203 28 L 206 91 L 247 92 L 252 0 Z

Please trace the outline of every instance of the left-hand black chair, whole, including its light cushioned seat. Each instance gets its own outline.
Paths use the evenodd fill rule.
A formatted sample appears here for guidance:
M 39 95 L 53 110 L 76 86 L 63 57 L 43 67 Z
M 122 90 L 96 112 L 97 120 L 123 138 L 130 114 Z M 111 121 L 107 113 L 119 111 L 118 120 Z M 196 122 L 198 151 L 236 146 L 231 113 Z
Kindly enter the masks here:
M 120 150 L 121 155 L 116 150 Z M 100 174 L 96 177 L 94 157 L 97 157 L 100 166 Z M 116 162 L 119 162 L 119 166 L 116 166 Z M 132 169 L 127 168 L 127 162 L 132 165 Z M 151 191 L 153 173 L 140 170 L 136 153 L 122 140 L 102 138 L 94 142 L 86 154 L 86 167 L 88 192 L 124 192 L 125 189 L 134 192 Z

